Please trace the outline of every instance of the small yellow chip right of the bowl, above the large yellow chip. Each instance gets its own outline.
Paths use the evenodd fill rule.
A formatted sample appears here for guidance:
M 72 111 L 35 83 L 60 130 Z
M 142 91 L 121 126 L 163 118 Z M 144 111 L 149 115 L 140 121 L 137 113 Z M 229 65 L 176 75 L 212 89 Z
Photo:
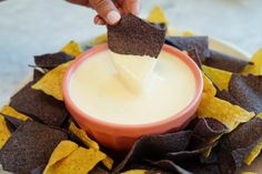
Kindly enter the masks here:
M 229 71 L 223 71 L 208 65 L 202 65 L 203 72 L 210 78 L 210 80 L 220 89 L 229 90 L 229 82 L 232 73 Z

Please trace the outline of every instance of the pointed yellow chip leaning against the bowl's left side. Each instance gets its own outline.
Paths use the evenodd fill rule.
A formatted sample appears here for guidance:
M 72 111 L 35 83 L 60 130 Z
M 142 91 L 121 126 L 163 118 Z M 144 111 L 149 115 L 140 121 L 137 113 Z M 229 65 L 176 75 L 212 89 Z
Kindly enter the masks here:
M 57 100 L 63 101 L 62 81 L 63 75 L 72 61 L 63 63 L 56 69 L 49 71 L 36 84 L 32 85 L 34 90 L 41 90 L 48 95 L 52 95 Z

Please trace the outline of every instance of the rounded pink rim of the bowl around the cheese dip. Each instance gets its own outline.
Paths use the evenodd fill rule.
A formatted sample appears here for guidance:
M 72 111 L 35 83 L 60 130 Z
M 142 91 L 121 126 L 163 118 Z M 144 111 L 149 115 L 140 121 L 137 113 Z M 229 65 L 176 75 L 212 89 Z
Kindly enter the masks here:
M 190 103 L 180 112 L 178 112 L 174 115 L 171 115 L 164 120 L 161 121 L 157 121 L 157 122 L 152 122 L 152 123 L 145 123 L 145 124 L 120 124 L 120 123 L 112 123 L 112 122 L 107 122 L 100 119 L 97 119 L 92 115 L 88 115 L 87 113 L 84 113 L 83 111 L 81 111 L 75 104 L 74 102 L 71 100 L 70 98 L 70 92 L 69 92 L 69 84 L 70 84 L 70 80 L 71 76 L 73 74 L 73 72 L 75 71 L 75 69 L 88 58 L 90 58 L 91 55 L 101 52 L 103 50 L 108 49 L 108 44 L 100 44 L 97 45 L 94 48 L 91 48 L 87 51 L 84 51 L 82 54 L 80 54 L 78 58 L 75 58 L 75 60 L 72 62 L 72 64 L 68 68 L 68 70 L 66 71 L 66 74 L 63 76 L 63 82 L 62 82 L 62 92 L 63 92 L 63 98 L 64 98 L 64 103 L 67 105 L 67 108 L 71 108 L 73 110 L 74 113 L 77 113 L 77 115 L 72 115 L 73 117 L 78 117 L 80 120 L 85 120 L 89 121 L 90 123 L 94 123 L 101 126 L 105 126 L 109 129 L 119 129 L 119 130 L 148 130 L 148 129 L 152 129 L 152 127 L 158 127 L 161 125 L 165 125 L 168 123 L 170 123 L 171 121 L 174 121 L 175 119 L 180 119 L 182 117 L 184 114 L 187 114 L 188 112 L 190 112 L 192 109 L 195 108 L 195 105 L 199 104 L 199 101 L 201 100 L 201 95 L 202 95 L 202 91 L 203 91 L 203 78 L 202 78 L 202 72 L 201 70 L 198 68 L 196 63 L 184 52 L 164 44 L 162 50 L 167 51 L 171 54 L 177 55 L 180 60 L 182 60 L 189 68 L 190 70 L 193 72 L 194 79 L 195 79 L 195 83 L 196 83 L 196 90 L 195 90 L 195 94 L 194 98 L 190 101 Z M 69 109 L 70 111 L 70 109 Z M 190 117 L 189 117 L 190 120 Z

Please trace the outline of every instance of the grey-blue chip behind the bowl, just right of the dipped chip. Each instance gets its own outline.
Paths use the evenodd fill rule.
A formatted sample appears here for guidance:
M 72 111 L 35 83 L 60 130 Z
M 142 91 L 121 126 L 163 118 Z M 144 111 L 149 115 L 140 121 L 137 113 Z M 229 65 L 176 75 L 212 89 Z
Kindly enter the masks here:
M 210 57 L 208 37 L 168 37 L 165 43 L 181 51 L 196 49 L 202 63 Z

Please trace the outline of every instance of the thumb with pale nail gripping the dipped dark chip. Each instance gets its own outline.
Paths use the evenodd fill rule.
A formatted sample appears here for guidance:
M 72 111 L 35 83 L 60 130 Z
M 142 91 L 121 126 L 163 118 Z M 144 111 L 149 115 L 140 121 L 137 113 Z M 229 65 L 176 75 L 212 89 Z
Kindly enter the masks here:
M 111 0 L 90 0 L 89 3 L 109 24 L 115 24 L 121 18 Z

